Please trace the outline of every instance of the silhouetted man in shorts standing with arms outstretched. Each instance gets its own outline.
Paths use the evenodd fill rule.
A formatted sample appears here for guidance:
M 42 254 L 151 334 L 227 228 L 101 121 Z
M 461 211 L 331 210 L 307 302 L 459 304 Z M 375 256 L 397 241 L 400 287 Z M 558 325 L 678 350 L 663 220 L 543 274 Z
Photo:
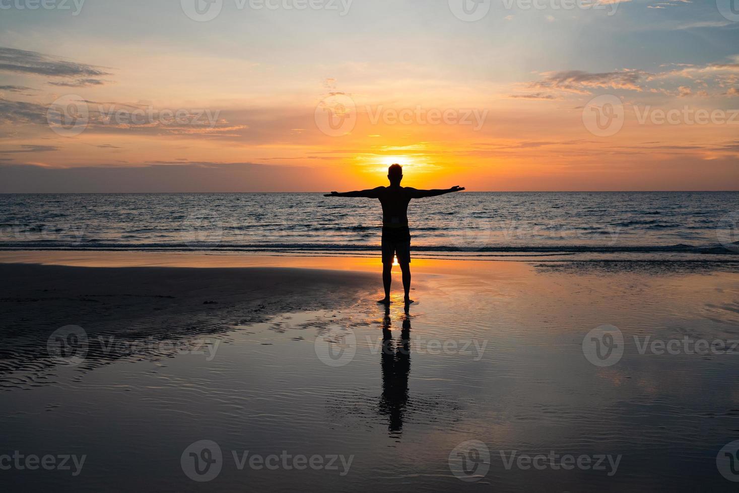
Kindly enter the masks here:
M 417 190 L 412 187 L 401 187 L 403 167 L 392 165 L 387 170 L 389 187 L 377 187 L 372 190 L 357 190 L 355 192 L 327 193 L 325 197 L 365 197 L 380 199 L 382 204 L 382 283 L 385 288 L 385 297 L 378 303 L 390 303 L 390 284 L 392 283 L 392 258 L 398 257 L 398 263 L 403 272 L 403 289 L 405 289 L 405 303 L 413 303 L 409 297 L 411 289 L 411 233 L 408 228 L 408 204 L 411 199 L 435 197 L 445 193 L 460 192 L 463 187 L 454 186 L 445 190 Z

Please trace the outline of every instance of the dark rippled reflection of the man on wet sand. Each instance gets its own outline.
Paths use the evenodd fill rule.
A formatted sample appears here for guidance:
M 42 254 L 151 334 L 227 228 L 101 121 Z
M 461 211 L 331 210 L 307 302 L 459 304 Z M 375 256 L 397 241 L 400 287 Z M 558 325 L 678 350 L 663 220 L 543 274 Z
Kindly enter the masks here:
M 408 373 L 411 370 L 411 321 L 406 314 L 403 319 L 401 339 L 392 339 L 389 309 L 385 311 L 382 324 L 382 398 L 380 412 L 389 416 L 388 430 L 403 429 L 403 413 L 408 402 Z

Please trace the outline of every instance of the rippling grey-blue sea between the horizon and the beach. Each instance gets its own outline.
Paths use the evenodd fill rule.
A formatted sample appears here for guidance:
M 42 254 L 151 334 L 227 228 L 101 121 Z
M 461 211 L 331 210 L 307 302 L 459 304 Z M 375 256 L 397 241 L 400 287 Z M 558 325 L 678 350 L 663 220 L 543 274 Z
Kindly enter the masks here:
M 375 255 L 374 199 L 318 193 L 1 196 L 1 249 Z M 411 202 L 416 255 L 734 254 L 739 193 L 455 193 Z

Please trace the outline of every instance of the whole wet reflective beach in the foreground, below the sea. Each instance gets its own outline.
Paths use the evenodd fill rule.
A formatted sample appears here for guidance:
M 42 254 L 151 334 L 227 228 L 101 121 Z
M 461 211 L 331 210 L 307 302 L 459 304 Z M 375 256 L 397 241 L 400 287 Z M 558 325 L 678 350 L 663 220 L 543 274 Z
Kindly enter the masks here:
M 406 312 L 375 303 L 377 258 L 0 262 L 4 449 L 86 456 L 79 475 L 8 472 L 10 489 L 733 486 L 719 452 L 739 438 L 739 349 L 690 350 L 739 339 L 731 264 L 414 261 L 419 303 Z M 588 334 L 602 325 L 618 328 L 623 354 L 593 364 Z M 660 354 L 655 339 L 681 349 Z M 185 453 L 202 440 L 222 454 L 205 484 Z M 240 462 L 246 451 L 279 466 Z M 550 453 L 592 463 L 508 461 Z M 298 470 L 285 454 L 323 466 Z

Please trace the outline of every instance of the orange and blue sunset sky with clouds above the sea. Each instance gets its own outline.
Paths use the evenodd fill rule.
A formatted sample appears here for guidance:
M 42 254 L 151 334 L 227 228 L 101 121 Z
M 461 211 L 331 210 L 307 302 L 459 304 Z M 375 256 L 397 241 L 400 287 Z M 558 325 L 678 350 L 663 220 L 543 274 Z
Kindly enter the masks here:
M 417 187 L 738 188 L 739 23 L 636 1 L 467 22 L 442 3 L 10 10 L 0 192 L 343 190 L 392 162 Z

